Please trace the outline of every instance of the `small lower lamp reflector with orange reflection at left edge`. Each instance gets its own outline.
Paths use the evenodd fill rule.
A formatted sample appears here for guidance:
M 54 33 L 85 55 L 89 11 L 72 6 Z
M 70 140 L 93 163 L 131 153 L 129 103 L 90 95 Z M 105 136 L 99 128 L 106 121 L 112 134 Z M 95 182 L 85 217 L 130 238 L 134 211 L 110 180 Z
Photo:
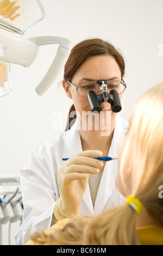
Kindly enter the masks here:
M 0 97 L 10 93 L 10 63 L 0 60 Z

